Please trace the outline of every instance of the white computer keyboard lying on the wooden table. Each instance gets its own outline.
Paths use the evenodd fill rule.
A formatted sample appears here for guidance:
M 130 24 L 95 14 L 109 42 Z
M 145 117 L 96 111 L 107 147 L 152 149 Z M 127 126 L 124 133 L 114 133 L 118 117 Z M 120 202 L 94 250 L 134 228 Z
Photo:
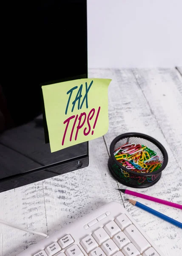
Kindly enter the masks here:
M 117 202 L 69 224 L 18 256 L 164 256 Z

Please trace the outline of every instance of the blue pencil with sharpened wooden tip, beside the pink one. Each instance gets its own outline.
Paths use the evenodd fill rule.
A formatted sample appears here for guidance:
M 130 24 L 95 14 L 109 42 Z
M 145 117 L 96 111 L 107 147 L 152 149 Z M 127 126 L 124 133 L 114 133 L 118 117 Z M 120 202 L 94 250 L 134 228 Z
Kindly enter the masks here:
M 128 199 L 128 201 L 131 204 L 133 204 L 133 205 L 135 205 L 135 206 L 137 206 L 137 207 L 139 207 L 139 208 L 141 208 L 141 209 L 143 209 L 143 210 L 145 210 L 147 212 L 150 212 L 150 213 L 156 215 L 157 217 L 162 218 L 163 220 L 168 221 L 168 222 L 170 222 L 173 225 L 176 225 L 177 227 L 182 228 L 182 223 L 181 222 L 175 221 L 174 219 L 172 219 L 172 218 L 170 218 L 170 217 L 168 217 L 168 216 L 166 216 L 166 215 L 164 215 L 164 214 L 162 214 L 160 212 L 157 212 L 154 209 L 152 209 L 152 208 L 150 208 L 150 207 L 148 207 L 148 206 L 146 206 L 144 204 L 141 204 L 141 203 L 139 203 L 137 201 L 134 201 L 134 200 L 131 200 L 131 199 Z

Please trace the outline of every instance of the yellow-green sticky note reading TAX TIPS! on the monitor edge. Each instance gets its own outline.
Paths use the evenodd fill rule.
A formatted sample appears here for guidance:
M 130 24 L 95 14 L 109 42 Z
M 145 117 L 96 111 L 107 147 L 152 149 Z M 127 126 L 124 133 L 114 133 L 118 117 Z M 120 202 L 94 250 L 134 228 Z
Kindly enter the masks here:
M 42 86 L 51 152 L 108 131 L 111 79 L 77 79 Z

